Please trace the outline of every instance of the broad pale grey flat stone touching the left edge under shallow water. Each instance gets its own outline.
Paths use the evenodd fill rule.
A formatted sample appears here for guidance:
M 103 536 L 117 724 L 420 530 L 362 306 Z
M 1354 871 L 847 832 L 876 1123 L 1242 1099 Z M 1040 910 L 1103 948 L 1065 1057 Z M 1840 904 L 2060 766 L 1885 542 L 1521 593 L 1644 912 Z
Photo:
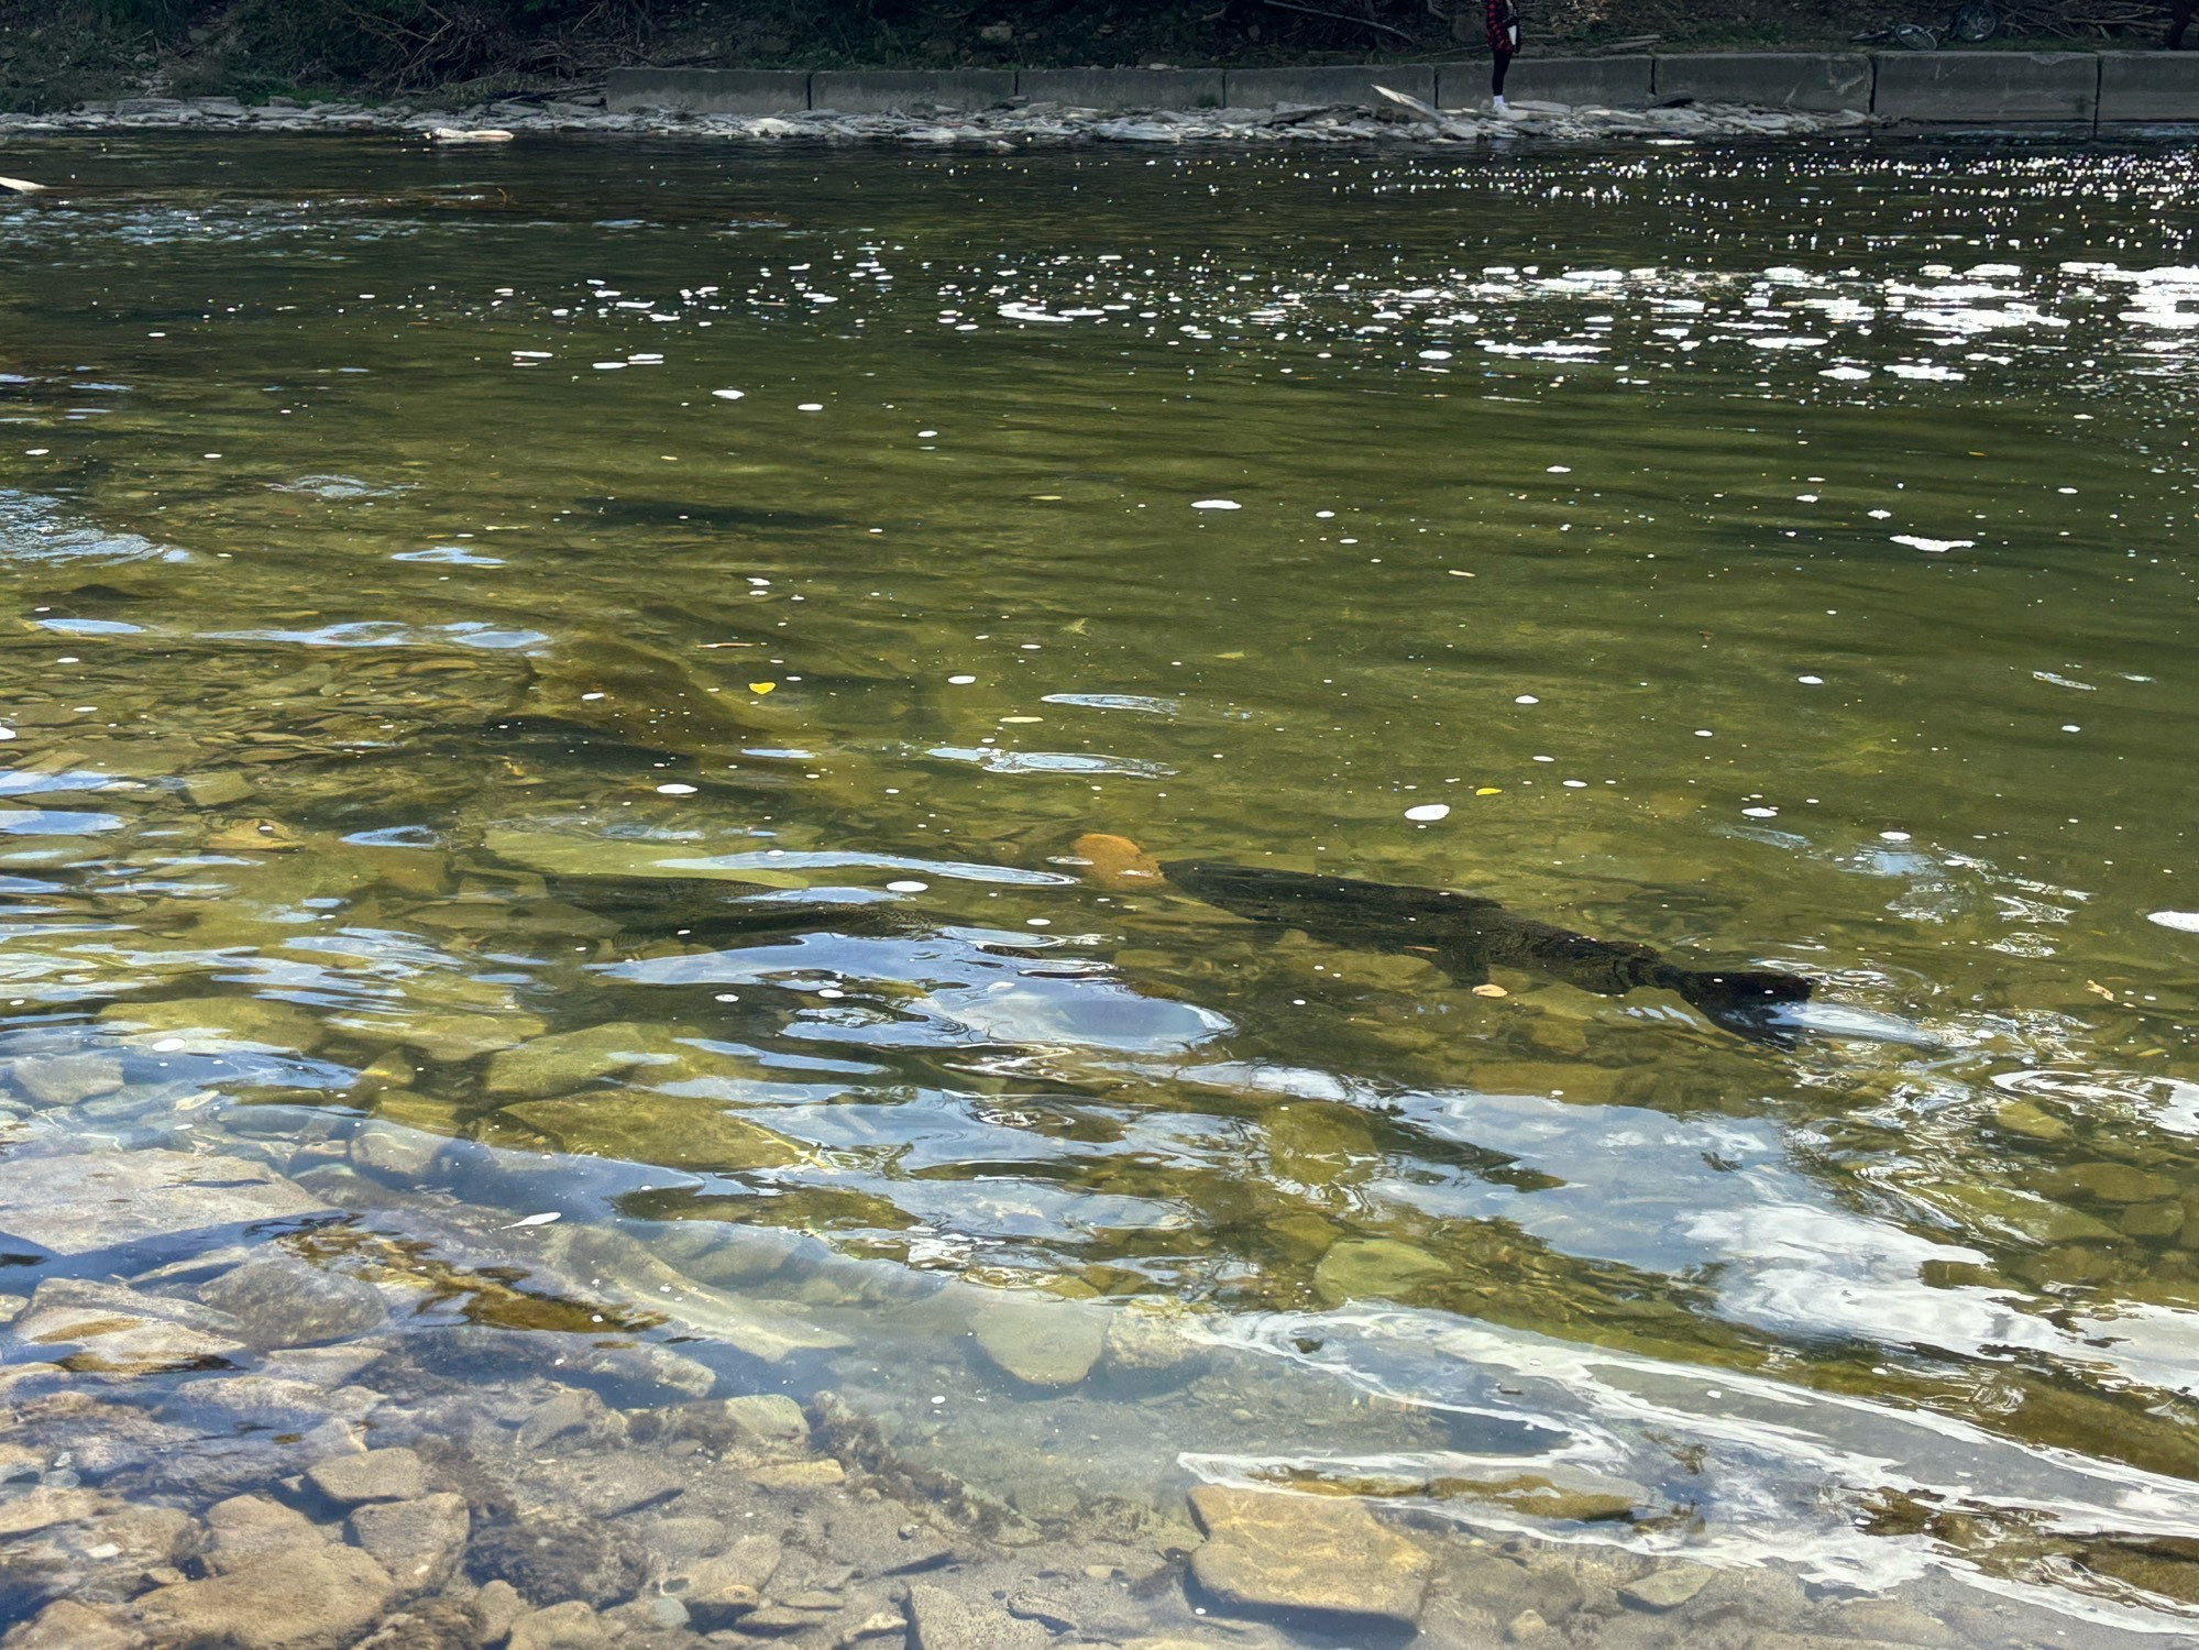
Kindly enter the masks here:
M 128 1151 L 0 1162 L 0 1234 L 62 1256 L 330 1212 L 242 1157 Z

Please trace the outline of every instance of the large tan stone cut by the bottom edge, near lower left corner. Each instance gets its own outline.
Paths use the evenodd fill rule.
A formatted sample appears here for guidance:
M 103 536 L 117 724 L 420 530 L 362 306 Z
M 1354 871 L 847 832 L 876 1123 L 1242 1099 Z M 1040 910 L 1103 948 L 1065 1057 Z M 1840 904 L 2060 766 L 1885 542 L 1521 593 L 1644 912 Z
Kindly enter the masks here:
M 158 1643 L 347 1650 L 394 1595 L 389 1573 L 367 1553 L 330 1542 L 156 1588 L 132 1604 L 130 1617 Z

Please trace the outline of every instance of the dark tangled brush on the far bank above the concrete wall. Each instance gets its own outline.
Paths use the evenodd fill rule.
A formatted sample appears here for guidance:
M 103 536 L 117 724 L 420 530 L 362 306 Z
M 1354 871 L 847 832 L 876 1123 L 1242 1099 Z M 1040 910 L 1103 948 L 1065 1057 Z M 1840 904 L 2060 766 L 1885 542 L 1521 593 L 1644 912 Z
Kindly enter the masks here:
M 2166 0 L 1990 0 L 1992 44 L 2142 46 Z M 1522 0 L 1528 51 L 1843 46 L 1959 0 Z M 618 64 L 1260 64 L 1478 53 L 1482 0 L 0 0 L 0 103 L 574 90 Z

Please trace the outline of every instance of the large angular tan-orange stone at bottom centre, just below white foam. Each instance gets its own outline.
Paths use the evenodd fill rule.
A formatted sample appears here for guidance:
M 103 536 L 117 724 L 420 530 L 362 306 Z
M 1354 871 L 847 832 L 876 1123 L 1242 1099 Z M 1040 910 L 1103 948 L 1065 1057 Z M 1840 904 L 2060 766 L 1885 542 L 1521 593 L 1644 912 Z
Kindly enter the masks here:
M 1198 1485 L 1192 1516 L 1207 1533 L 1192 1575 L 1225 1604 L 1399 1626 L 1421 1617 L 1429 1555 L 1357 1500 Z

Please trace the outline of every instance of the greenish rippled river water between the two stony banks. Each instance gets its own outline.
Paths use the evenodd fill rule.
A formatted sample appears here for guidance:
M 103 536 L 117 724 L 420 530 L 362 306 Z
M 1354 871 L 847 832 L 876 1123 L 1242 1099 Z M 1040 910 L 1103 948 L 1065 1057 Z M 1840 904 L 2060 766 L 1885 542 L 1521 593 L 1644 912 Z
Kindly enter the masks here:
M 2199 1608 L 2186 150 L 18 147 L 18 1151 L 616 1230 L 1034 1518 Z M 1823 983 L 1476 997 L 1091 829 Z

